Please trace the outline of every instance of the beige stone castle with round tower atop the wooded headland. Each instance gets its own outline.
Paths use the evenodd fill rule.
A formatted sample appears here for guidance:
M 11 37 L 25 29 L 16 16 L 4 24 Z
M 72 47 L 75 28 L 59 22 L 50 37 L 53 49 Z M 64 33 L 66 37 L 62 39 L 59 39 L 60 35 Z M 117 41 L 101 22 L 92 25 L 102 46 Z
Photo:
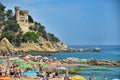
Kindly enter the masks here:
M 34 23 L 29 23 L 28 10 L 20 10 L 20 7 L 15 7 L 15 18 L 17 23 L 20 25 L 22 31 L 25 33 L 29 31 L 29 27 L 33 26 Z

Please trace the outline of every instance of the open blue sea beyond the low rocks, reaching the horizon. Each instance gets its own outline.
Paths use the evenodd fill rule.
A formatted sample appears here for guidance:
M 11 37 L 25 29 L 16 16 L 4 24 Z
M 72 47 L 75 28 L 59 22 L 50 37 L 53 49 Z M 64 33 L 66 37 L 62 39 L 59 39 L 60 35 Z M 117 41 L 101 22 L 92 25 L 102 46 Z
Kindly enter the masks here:
M 88 48 L 93 50 L 95 47 L 101 48 L 101 52 L 67 52 L 56 53 L 54 57 L 57 59 L 65 59 L 68 57 L 76 57 L 80 59 L 97 59 L 97 60 L 120 60 L 120 45 L 83 45 L 83 46 L 69 46 L 71 48 Z

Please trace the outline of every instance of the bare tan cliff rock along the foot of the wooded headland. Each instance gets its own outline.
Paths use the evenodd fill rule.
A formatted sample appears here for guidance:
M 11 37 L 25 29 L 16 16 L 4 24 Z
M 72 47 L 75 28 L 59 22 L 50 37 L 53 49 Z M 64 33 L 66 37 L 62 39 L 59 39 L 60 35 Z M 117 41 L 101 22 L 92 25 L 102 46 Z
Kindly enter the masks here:
M 14 47 L 7 38 L 3 38 L 0 41 L 0 50 L 4 51 L 65 51 L 67 46 L 62 42 L 50 42 L 46 41 L 44 38 L 39 38 L 39 43 L 21 43 L 20 47 Z

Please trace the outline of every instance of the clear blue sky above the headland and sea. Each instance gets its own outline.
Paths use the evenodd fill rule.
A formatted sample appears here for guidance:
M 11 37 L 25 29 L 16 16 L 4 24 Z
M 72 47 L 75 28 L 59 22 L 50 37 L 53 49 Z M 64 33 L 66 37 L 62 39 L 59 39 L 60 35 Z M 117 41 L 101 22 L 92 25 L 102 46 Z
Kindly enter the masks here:
M 120 0 L 0 0 L 20 6 L 68 45 L 120 45 Z

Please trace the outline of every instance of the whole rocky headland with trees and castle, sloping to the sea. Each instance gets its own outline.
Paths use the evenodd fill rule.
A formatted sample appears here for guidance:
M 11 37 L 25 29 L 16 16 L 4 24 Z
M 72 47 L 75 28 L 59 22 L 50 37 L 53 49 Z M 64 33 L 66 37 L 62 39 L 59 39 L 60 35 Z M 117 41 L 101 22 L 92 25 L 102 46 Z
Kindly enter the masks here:
M 56 52 L 66 51 L 67 45 L 54 34 L 48 33 L 45 26 L 34 21 L 28 10 L 19 6 L 6 10 L 0 3 L 0 50 L 17 52 Z

